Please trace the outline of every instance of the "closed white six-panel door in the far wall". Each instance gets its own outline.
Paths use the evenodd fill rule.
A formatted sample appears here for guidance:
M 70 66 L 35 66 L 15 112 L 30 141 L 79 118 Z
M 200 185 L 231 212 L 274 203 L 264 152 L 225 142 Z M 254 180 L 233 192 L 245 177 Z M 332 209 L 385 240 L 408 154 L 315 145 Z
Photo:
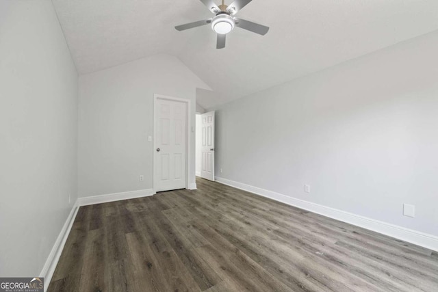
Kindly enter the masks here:
M 188 104 L 157 98 L 154 110 L 154 189 L 186 188 Z

